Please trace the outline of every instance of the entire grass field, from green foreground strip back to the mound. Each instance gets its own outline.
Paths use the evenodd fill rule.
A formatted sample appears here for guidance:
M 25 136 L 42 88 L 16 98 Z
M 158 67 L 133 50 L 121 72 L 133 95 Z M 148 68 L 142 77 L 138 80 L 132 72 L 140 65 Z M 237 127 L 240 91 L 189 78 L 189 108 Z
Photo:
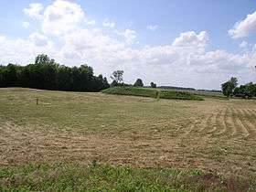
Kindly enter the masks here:
M 255 145 L 255 100 L 0 89 L 0 190 L 255 191 Z

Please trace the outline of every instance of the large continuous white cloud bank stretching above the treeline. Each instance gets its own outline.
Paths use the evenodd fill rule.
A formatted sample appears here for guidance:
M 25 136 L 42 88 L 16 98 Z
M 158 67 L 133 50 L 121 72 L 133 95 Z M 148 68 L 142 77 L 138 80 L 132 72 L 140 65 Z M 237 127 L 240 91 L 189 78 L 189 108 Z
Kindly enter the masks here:
M 240 54 L 219 49 L 208 51 L 206 31 L 181 33 L 162 46 L 137 47 L 133 45 L 138 40 L 135 30 L 110 28 L 106 32 L 88 27 L 80 5 L 69 1 L 53 2 L 42 15 L 39 21 L 42 30 L 25 39 L 0 35 L 0 63 L 27 64 L 33 62 L 37 54 L 46 53 L 60 64 L 87 63 L 96 74 L 107 77 L 112 70 L 123 69 L 127 82 L 139 77 L 145 83 L 154 81 L 159 85 L 203 89 L 219 89 L 231 76 L 245 82 L 255 76 L 252 68 L 256 48 Z

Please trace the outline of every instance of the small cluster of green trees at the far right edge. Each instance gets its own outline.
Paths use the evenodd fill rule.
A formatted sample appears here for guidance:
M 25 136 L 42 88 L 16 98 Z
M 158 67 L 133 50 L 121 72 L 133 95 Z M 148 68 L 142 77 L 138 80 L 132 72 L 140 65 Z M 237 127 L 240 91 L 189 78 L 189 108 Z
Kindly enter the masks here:
M 234 77 L 221 84 L 221 90 L 227 97 L 235 96 L 248 99 L 256 97 L 256 84 L 250 82 L 238 87 L 238 79 Z

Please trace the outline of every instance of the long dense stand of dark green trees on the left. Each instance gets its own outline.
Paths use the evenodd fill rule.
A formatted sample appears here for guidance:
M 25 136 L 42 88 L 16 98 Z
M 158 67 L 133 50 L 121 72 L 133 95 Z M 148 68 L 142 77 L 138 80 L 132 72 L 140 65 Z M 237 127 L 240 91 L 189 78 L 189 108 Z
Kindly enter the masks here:
M 102 75 L 95 77 L 87 65 L 69 68 L 47 55 L 39 55 L 35 64 L 0 66 L 0 87 L 25 87 L 59 91 L 101 91 L 109 88 Z

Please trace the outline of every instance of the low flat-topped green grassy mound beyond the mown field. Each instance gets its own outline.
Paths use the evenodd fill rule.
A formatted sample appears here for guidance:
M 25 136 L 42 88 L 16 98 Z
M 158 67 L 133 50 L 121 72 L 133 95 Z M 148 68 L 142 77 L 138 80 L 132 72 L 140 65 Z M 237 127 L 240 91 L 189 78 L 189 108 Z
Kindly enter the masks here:
M 177 99 L 177 100 L 199 100 L 203 98 L 186 91 L 165 91 L 151 88 L 138 88 L 138 87 L 112 87 L 107 90 L 101 91 L 109 94 L 120 94 L 120 95 L 133 95 L 141 97 L 152 97 L 160 99 Z

